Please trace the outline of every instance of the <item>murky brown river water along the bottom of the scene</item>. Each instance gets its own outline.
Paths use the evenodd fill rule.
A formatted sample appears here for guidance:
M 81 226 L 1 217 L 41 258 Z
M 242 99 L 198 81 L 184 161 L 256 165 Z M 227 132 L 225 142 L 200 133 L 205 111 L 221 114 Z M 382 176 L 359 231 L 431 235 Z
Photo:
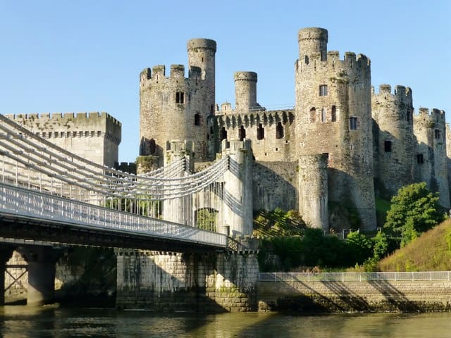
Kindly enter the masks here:
M 451 337 L 451 313 L 154 314 L 96 308 L 0 307 L 0 337 Z

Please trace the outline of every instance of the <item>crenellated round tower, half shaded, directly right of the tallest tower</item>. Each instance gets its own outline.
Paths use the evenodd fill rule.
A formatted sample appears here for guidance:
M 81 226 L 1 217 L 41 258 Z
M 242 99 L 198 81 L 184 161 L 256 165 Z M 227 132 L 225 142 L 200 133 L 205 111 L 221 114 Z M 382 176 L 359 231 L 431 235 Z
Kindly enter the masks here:
M 374 176 L 378 191 L 387 199 L 413 182 L 412 90 L 381 84 L 371 96 L 374 120 Z

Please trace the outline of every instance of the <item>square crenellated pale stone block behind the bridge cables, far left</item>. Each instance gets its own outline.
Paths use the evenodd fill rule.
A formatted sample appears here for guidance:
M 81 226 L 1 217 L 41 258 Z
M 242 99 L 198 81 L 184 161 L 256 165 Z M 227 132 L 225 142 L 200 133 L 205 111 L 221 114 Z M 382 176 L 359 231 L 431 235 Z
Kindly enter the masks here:
M 118 161 L 121 123 L 108 113 L 5 115 L 67 151 L 111 168 Z

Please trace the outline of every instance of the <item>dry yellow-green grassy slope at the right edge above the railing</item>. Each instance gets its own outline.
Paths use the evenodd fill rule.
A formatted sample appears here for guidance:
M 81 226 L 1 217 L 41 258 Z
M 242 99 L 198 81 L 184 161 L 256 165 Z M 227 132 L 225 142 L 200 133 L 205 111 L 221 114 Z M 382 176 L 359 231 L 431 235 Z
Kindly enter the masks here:
M 451 270 L 451 251 L 446 242 L 451 233 L 451 220 L 425 232 L 414 242 L 398 249 L 379 262 L 381 271 Z

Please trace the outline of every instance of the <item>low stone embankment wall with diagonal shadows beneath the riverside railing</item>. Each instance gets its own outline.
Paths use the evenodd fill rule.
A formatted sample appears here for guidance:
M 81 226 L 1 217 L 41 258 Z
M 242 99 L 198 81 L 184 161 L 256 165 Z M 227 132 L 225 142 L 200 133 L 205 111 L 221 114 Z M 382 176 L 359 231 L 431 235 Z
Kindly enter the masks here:
M 259 282 L 259 311 L 450 311 L 451 281 Z

